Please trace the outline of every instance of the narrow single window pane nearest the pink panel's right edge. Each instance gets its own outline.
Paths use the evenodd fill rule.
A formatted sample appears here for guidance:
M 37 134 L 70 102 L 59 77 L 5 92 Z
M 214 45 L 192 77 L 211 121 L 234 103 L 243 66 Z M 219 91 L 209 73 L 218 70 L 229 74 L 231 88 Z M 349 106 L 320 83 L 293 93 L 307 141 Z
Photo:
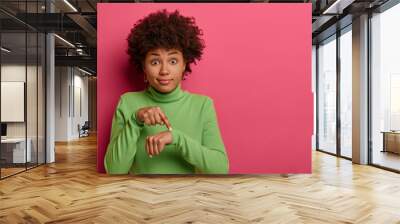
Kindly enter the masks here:
M 318 47 L 318 149 L 336 153 L 336 36 Z

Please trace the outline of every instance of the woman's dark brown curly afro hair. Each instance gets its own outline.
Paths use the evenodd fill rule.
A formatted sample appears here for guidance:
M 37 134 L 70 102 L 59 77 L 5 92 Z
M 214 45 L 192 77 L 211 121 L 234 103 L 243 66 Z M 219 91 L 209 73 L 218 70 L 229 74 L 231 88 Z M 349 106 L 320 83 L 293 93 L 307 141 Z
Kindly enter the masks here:
M 147 52 L 157 48 L 178 49 L 186 61 L 185 75 L 192 72 L 190 64 L 201 60 L 204 41 L 202 30 L 193 17 L 185 17 L 176 10 L 165 9 L 154 12 L 139 20 L 128 36 L 128 51 L 135 68 L 143 74 L 142 63 Z

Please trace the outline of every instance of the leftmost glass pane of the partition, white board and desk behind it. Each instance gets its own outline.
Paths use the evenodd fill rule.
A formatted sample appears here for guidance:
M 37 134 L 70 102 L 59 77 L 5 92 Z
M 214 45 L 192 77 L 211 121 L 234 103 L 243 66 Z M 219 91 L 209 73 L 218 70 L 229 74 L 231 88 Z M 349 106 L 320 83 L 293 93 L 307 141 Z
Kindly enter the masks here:
M 1 175 L 7 177 L 24 171 L 31 157 L 26 142 L 26 33 L 3 32 L 1 47 L 0 110 L 6 130 L 1 139 Z

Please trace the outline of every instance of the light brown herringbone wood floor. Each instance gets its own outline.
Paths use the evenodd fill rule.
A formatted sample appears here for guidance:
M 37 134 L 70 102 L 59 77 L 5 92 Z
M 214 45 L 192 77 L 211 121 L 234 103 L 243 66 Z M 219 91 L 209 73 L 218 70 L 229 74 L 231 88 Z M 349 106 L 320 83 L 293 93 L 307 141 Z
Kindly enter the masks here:
M 96 139 L 0 181 L 0 223 L 400 223 L 400 175 L 320 152 L 310 175 L 112 176 Z

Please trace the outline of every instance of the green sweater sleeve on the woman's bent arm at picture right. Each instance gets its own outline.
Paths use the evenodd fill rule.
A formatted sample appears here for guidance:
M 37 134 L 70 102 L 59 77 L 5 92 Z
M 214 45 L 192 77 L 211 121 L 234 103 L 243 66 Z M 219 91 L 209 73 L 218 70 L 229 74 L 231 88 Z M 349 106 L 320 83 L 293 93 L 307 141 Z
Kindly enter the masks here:
M 211 99 L 207 99 L 202 113 L 204 116 L 202 142 L 174 128 L 173 144 L 176 144 L 182 157 L 201 173 L 226 174 L 229 171 L 229 162 Z

